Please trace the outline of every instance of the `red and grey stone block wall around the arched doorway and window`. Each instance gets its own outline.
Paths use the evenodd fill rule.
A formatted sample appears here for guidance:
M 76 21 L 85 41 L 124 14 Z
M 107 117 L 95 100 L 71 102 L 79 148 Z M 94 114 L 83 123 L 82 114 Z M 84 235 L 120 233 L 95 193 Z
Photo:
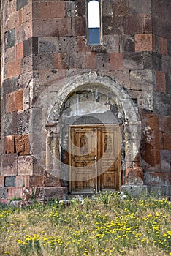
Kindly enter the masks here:
M 31 140 L 31 132 L 41 124 L 38 132 L 45 137 L 58 91 L 76 75 L 93 71 L 113 78 L 132 98 L 142 121 L 144 182 L 171 193 L 170 12 L 170 0 L 102 1 L 103 43 L 88 45 L 86 1 L 1 1 L 3 191 L 15 187 L 21 196 L 24 186 L 47 184 L 45 145 L 39 165 L 39 138 Z M 53 186 L 61 185 L 55 180 Z

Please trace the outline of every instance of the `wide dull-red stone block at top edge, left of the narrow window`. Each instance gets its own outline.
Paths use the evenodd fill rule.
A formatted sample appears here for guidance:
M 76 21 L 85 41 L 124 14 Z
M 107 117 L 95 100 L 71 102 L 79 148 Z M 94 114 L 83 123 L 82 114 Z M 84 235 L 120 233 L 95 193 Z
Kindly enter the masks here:
M 40 3 L 40 18 L 64 18 L 65 16 L 65 1 L 50 1 Z

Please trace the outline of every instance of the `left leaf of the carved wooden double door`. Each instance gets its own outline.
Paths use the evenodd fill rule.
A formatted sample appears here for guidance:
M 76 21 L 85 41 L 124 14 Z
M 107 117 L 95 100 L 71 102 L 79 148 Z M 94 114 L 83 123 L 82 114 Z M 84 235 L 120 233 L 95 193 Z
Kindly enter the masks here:
M 93 192 L 96 128 L 71 127 L 70 136 L 70 192 Z

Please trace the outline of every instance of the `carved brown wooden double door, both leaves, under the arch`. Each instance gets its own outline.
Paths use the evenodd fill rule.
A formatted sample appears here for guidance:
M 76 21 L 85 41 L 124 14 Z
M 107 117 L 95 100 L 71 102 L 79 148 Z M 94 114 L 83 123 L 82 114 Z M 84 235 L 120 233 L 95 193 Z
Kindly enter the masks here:
M 115 191 L 121 186 L 119 125 L 69 127 L 69 192 Z

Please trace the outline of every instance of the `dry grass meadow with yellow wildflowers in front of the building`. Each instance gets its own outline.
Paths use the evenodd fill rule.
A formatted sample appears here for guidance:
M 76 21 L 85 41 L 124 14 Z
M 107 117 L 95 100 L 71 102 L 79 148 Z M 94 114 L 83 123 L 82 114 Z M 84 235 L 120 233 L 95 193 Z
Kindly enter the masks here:
M 0 255 L 171 255 L 171 203 L 117 193 L 0 208 Z

